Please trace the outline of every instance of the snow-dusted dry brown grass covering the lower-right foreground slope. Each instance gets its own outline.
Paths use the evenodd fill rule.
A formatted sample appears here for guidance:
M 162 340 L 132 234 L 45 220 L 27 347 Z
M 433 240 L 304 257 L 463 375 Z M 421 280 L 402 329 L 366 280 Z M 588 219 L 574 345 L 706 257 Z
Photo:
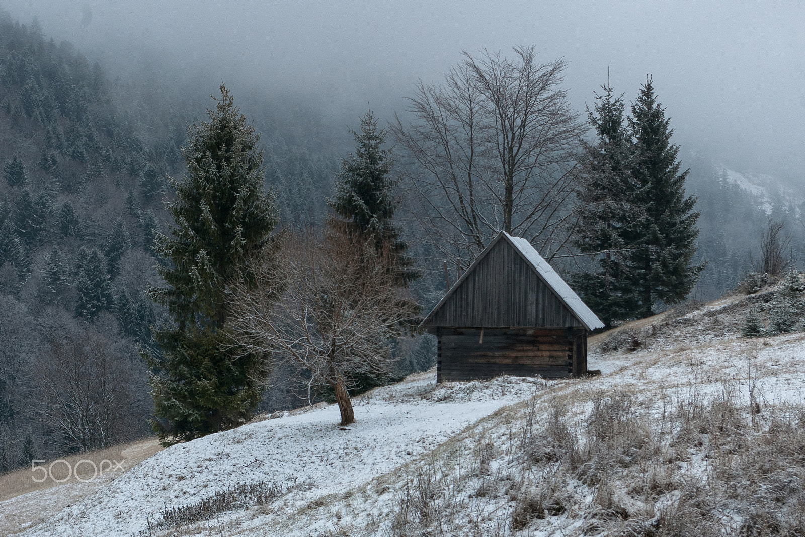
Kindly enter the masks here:
M 586 396 L 535 397 L 508 445 L 487 424 L 412 468 L 388 535 L 805 535 L 805 408 L 758 414 L 730 385 Z

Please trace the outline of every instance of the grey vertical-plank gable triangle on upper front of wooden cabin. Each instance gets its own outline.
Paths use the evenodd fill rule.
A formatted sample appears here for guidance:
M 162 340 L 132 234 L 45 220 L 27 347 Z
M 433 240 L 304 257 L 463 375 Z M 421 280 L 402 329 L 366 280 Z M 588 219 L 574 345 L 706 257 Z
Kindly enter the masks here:
M 582 326 L 535 270 L 499 240 L 427 326 Z

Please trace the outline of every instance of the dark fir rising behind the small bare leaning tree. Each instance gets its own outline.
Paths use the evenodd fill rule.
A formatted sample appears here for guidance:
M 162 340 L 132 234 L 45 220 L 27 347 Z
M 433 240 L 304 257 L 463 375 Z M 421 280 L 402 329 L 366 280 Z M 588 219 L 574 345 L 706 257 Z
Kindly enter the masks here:
M 341 162 L 336 195 L 328 204 L 345 222 L 351 238 L 373 240 L 378 251 L 386 250 L 396 280 L 407 287 L 419 272 L 411 267 L 408 245 L 400 240 L 392 222 L 397 209 L 396 182 L 390 173 L 394 164 L 391 150 L 383 147 L 386 131 L 378 130 L 378 120 L 369 111 L 361 117 L 361 132 L 352 133 L 357 149 Z

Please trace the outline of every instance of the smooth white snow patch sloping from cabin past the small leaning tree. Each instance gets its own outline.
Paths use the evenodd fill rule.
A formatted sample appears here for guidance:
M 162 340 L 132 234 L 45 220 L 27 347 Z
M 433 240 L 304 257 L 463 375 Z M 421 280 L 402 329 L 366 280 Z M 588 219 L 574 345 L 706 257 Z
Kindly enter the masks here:
M 283 504 L 302 506 L 405 465 L 535 392 L 534 379 L 436 387 L 435 376 L 415 375 L 358 398 L 357 423 L 347 430 L 337 426 L 337 406 L 328 405 L 172 446 L 25 535 L 128 537 L 166 505 L 186 505 L 243 482 L 282 484 L 289 490 Z M 14 498 L 18 506 L 25 501 Z

